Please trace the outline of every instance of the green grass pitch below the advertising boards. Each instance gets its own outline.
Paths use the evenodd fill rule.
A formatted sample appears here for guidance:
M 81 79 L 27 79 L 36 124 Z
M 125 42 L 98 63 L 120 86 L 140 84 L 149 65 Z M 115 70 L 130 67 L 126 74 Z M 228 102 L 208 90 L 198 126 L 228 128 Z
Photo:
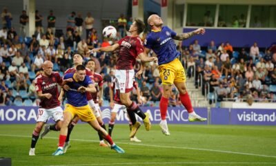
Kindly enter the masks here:
M 97 133 L 77 124 L 71 146 L 63 156 L 51 156 L 59 133 L 51 131 L 28 156 L 34 124 L 0 124 L 0 157 L 12 165 L 276 165 L 275 126 L 169 124 L 170 136 L 158 125 L 141 127 L 130 142 L 128 124 L 115 124 L 112 138 L 126 154 L 99 147 Z

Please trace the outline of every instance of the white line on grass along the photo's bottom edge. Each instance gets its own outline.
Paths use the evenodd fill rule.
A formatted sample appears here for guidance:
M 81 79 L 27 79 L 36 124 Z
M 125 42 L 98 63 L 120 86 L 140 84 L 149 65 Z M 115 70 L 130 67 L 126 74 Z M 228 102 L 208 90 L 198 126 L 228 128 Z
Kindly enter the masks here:
M 245 163 L 245 162 L 218 162 L 218 163 L 206 163 L 206 162 L 202 162 L 202 163 L 190 163 L 190 162 L 177 162 L 177 163 L 157 163 L 157 162 L 153 162 L 153 163 L 106 163 L 106 164 L 79 164 L 79 165 L 46 165 L 46 166 L 86 166 L 86 165 L 183 165 L 183 164 L 188 164 L 188 165 L 221 165 L 221 164 L 228 164 L 228 165 L 241 165 L 241 164 L 246 164 L 246 165 L 276 165 L 276 163 Z

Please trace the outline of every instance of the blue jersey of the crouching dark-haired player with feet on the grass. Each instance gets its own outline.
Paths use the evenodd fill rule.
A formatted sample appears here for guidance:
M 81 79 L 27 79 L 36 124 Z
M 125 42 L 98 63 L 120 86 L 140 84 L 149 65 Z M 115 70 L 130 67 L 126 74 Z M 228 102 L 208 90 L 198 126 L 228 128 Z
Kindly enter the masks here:
M 74 107 L 83 107 L 88 104 L 86 93 L 80 93 L 77 91 L 80 86 L 87 87 L 89 84 L 92 84 L 92 80 L 89 76 L 86 75 L 83 81 L 77 82 L 74 79 L 74 73 L 68 73 L 64 75 L 63 79 L 72 78 L 73 82 L 68 82 L 67 85 L 70 87 L 70 90 L 66 91 L 67 103 L 71 104 Z

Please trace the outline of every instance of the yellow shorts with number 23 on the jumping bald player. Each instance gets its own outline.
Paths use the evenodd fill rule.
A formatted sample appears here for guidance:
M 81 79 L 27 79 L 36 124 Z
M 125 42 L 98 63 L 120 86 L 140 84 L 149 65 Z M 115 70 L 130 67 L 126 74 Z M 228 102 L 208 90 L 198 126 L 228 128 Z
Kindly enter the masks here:
M 162 84 L 186 82 L 185 70 L 178 58 L 168 64 L 161 64 L 158 69 Z

